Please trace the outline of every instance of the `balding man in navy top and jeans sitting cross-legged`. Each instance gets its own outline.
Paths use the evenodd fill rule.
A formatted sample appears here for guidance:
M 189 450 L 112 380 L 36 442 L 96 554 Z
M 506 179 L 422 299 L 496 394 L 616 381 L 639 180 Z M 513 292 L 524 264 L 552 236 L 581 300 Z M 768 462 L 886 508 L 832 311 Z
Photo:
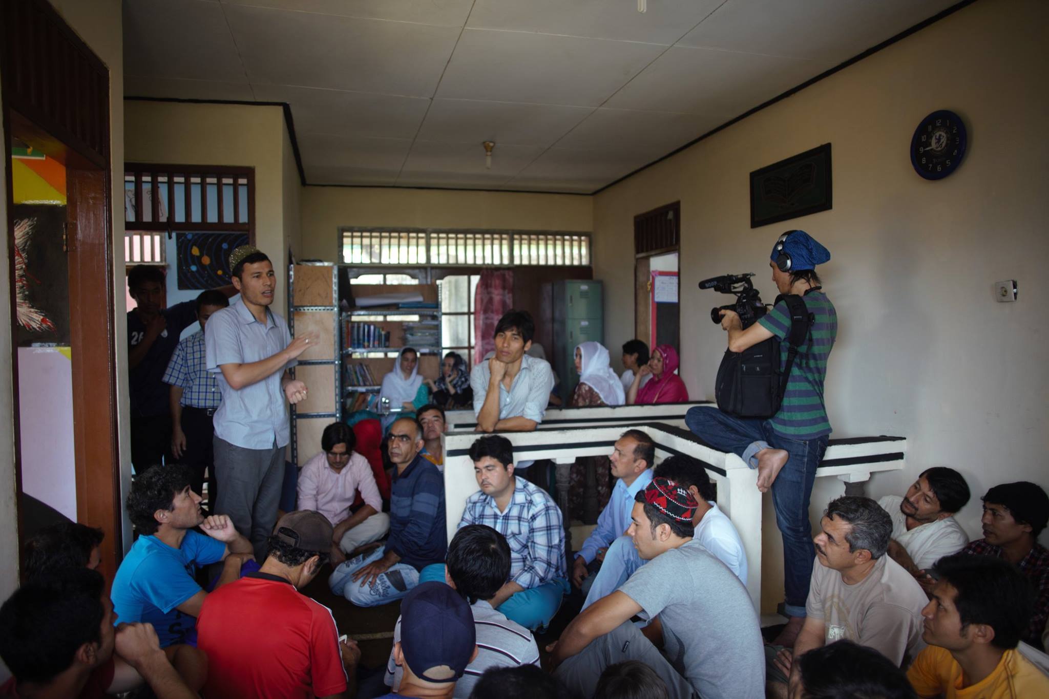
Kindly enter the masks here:
M 419 585 L 420 571 L 442 563 L 448 551 L 445 529 L 445 480 L 423 457 L 423 425 L 402 417 L 386 436 L 397 467 L 390 486 L 390 533 L 384 546 L 346 561 L 331 573 L 328 587 L 358 607 L 400 599 Z

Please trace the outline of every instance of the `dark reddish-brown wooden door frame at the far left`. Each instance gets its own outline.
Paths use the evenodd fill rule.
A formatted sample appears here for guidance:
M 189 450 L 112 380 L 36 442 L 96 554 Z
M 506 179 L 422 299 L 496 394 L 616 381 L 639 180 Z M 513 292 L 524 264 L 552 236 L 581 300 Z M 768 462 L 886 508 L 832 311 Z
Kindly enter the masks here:
M 18 15 L 21 13 L 21 15 Z M 77 520 L 100 527 L 104 569 L 115 573 L 123 558 L 121 462 L 116 406 L 116 355 L 112 254 L 112 163 L 109 147 L 109 70 L 93 51 L 43 0 L 5 0 L 5 19 L 29 18 L 45 27 L 49 48 L 69 58 L 27 68 L 17 61 L 13 28 L 5 29 L 2 118 L 4 133 L 17 135 L 35 150 L 66 168 L 66 249 L 69 262 L 69 319 L 72 365 L 73 443 Z M 24 38 L 23 38 L 24 39 Z M 26 44 L 19 44 L 23 48 Z M 65 53 L 61 53 L 66 51 Z M 81 87 L 65 80 L 63 69 L 79 70 Z M 85 75 L 93 81 L 87 85 Z M 13 79 L 14 75 L 14 79 Z M 55 91 L 42 96 L 51 78 Z M 71 91 L 65 88 L 73 86 Z M 102 89 L 104 86 L 105 89 Z M 90 89 L 89 89 L 90 87 Z M 90 102 L 91 99 L 94 102 Z M 49 100 L 49 102 L 48 102 Z M 88 104 L 90 102 L 90 104 Z M 48 108 L 44 108 L 44 104 Z M 74 107 L 83 111 L 78 112 Z M 15 289 L 14 183 L 9 141 L 4 144 L 7 185 L 7 250 L 12 327 L 12 388 L 16 497 L 20 547 L 24 534 L 22 451 L 19 420 L 18 343 Z

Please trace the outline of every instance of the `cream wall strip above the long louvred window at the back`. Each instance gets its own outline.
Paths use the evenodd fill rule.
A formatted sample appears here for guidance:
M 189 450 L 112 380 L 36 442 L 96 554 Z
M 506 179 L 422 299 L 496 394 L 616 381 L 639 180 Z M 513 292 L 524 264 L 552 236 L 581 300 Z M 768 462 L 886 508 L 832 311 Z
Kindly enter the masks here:
M 335 262 L 340 226 L 593 231 L 593 202 L 573 194 L 346 187 L 302 192 L 302 257 Z

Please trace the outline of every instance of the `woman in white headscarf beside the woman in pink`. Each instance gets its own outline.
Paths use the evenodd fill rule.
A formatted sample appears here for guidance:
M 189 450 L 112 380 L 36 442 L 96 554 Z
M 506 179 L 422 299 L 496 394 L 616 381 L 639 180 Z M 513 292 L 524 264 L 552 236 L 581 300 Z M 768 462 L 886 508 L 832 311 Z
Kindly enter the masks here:
M 576 347 L 576 373 L 579 384 L 572 394 L 573 408 L 622 406 L 626 396 L 616 372 L 608 366 L 608 350 L 600 343 L 582 343 Z M 597 498 L 591 507 L 586 501 L 586 472 L 593 468 L 597 480 Z M 609 462 L 606 456 L 584 456 L 576 459 L 569 472 L 569 511 L 586 524 L 597 521 L 598 512 L 612 496 Z

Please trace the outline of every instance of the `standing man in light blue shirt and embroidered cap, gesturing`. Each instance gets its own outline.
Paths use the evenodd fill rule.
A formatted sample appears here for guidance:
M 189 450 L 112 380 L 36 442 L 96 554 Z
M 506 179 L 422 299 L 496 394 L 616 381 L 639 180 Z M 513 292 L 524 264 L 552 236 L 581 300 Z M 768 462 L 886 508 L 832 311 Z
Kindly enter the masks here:
M 240 299 L 208 321 L 208 371 L 217 374 L 222 402 L 215 413 L 215 475 L 222 483 L 216 514 L 229 515 L 237 531 L 263 561 L 277 521 L 287 408 L 306 397 L 306 385 L 287 370 L 316 343 L 314 334 L 292 340 L 287 323 L 270 310 L 277 277 L 264 253 L 241 245 L 230 255 Z

